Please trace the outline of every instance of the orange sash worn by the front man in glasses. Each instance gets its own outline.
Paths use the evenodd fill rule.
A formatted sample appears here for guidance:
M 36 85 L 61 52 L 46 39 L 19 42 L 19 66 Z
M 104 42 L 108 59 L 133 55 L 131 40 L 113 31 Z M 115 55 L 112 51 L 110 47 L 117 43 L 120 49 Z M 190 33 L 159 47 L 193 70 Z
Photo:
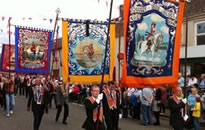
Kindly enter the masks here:
M 90 102 L 93 104 L 95 100 L 92 97 L 88 98 Z M 103 118 L 103 107 L 102 102 L 100 103 L 100 114 L 99 114 L 99 120 L 102 121 Z M 96 122 L 98 119 L 98 107 L 93 110 L 93 121 Z

